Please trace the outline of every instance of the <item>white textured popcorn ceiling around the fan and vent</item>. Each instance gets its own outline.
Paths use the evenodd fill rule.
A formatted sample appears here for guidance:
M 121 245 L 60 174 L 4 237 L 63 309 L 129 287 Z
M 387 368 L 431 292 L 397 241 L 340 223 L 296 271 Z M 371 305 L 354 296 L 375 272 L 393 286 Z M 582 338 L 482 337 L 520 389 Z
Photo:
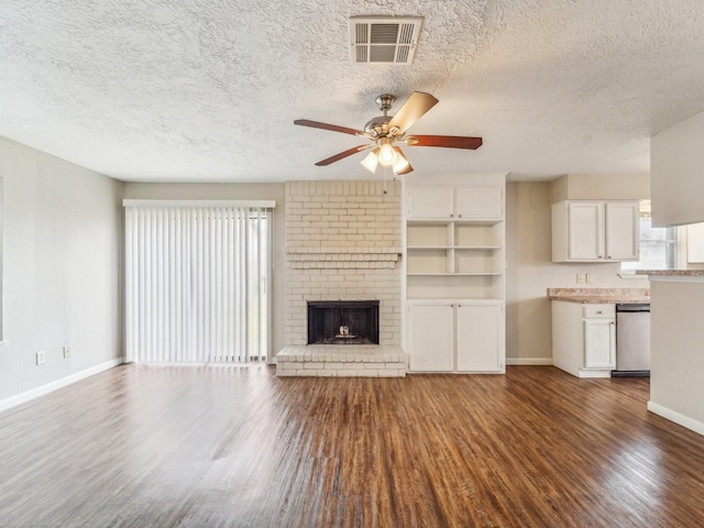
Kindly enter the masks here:
M 350 15 L 425 18 L 410 66 L 358 65 Z M 701 0 L 10 0 L 0 135 L 125 180 L 366 178 L 374 98 L 428 91 L 415 174 L 642 172 L 649 136 L 704 110 Z M 394 110 L 392 110 L 394 113 Z

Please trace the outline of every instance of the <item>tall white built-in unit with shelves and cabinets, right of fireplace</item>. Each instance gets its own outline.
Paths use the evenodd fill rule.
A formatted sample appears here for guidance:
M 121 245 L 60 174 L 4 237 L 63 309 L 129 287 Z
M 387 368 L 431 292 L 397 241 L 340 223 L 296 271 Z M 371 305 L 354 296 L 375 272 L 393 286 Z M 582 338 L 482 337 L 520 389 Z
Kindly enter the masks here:
M 411 372 L 505 372 L 505 182 L 468 180 L 476 186 L 408 189 Z

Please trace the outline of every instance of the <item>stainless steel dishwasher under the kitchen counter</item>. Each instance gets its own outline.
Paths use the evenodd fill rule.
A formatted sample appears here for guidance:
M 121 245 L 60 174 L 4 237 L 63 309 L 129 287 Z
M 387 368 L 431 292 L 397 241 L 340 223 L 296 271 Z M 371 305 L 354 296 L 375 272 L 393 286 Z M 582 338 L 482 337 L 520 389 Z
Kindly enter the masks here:
M 612 376 L 650 376 L 650 305 L 616 305 L 616 370 Z

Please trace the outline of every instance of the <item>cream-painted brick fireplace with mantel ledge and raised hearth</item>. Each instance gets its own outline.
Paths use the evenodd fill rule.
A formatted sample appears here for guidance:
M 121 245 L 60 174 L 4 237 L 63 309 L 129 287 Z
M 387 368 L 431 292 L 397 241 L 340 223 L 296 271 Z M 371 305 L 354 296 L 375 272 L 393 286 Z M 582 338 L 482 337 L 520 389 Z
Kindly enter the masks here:
M 314 367 L 302 369 L 298 369 L 300 362 L 295 361 L 296 370 L 300 372 L 293 374 L 292 367 L 287 375 L 302 375 L 304 371 L 305 375 L 361 375 L 360 371 L 388 375 L 381 372 L 386 363 L 393 363 L 395 375 L 400 375 L 402 356 L 405 375 L 405 354 L 400 350 L 400 184 L 289 182 L 286 184 L 285 233 L 286 346 L 277 354 L 277 374 L 282 375 L 283 363 L 292 356 L 302 358 L 306 353 L 310 356 L 318 351 L 316 359 L 320 359 L 327 350 L 336 360 L 361 355 L 371 360 L 376 354 L 382 361 L 362 362 L 374 363 L 372 366 L 346 365 L 328 369 L 328 372 L 318 369 L 320 361 L 314 362 Z M 378 301 L 378 345 L 346 345 L 344 351 L 337 352 L 334 345 L 329 349 L 306 346 L 309 302 L 361 300 Z M 353 353 L 352 348 L 359 352 Z M 386 361 L 389 356 L 393 356 L 391 362 Z M 340 362 L 334 363 L 339 366 Z

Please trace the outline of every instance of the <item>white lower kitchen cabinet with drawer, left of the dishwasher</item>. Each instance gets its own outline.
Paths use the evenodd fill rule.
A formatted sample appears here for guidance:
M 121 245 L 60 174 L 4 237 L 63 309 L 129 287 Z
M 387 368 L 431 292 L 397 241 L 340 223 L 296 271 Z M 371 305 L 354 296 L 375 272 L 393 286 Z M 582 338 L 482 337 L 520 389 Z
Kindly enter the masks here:
M 616 305 L 552 301 L 552 364 L 579 377 L 616 369 Z

